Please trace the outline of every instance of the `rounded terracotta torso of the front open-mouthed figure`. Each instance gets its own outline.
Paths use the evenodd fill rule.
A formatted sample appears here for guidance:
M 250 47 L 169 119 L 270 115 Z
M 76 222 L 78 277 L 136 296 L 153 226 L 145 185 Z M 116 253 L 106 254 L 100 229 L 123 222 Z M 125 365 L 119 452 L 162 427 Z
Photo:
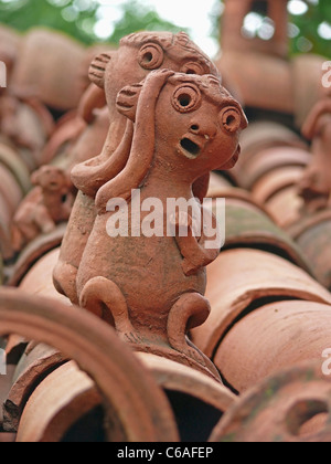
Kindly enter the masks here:
M 183 257 L 175 238 L 168 236 L 167 199 L 170 190 L 160 193 L 159 189 L 157 197 L 153 182 L 147 183 L 140 191 L 140 202 L 137 203 L 137 199 L 134 199 L 128 204 L 128 236 L 108 235 L 107 226 L 111 226 L 109 221 L 113 213 L 97 217 L 79 266 L 77 291 L 79 295 L 90 278 L 102 275 L 117 284 L 122 292 L 134 326 L 152 326 L 153 331 L 162 333 L 167 326 L 168 313 L 182 294 L 205 293 L 206 275 L 205 268 L 202 268 L 192 276 L 185 276 L 182 270 Z M 172 197 L 174 193 L 172 191 Z M 140 220 L 137 221 L 137 208 L 140 209 L 145 200 L 151 198 L 159 200 L 160 208 L 140 212 Z M 189 199 L 193 200 L 193 197 L 186 198 Z M 159 235 L 162 236 L 145 234 L 145 221 L 151 212 L 156 223 L 149 224 L 147 231 L 160 224 Z M 132 236 L 137 234 L 139 236 Z

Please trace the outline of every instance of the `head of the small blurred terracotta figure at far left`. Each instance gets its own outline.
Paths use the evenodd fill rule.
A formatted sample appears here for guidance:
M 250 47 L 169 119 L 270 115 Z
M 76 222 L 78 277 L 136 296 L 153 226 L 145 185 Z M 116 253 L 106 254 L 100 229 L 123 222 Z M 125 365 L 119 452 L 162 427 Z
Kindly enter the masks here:
M 31 181 L 34 186 L 39 186 L 43 190 L 60 192 L 62 194 L 67 193 L 72 187 L 67 173 L 63 169 L 54 166 L 43 166 L 33 172 Z

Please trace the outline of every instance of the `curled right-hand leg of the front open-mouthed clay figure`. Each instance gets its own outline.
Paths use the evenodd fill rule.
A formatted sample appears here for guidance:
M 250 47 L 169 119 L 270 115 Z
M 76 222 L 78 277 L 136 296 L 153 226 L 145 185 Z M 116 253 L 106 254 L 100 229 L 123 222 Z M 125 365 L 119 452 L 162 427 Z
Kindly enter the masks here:
M 209 367 L 210 359 L 194 347 L 188 338 L 188 333 L 201 326 L 210 312 L 211 305 L 206 298 L 199 293 L 186 293 L 174 304 L 168 319 L 168 338 L 171 347 Z

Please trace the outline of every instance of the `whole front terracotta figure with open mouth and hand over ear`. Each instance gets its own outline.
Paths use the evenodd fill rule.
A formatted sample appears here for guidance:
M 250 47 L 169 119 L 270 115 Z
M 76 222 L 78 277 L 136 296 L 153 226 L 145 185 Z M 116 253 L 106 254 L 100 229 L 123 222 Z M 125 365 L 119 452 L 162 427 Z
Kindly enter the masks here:
M 177 352 L 186 362 L 210 367 L 186 334 L 210 314 L 203 296 L 205 266 L 218 256 L 220 246 L 205 247 L 203 228 L 195 236 L 194 213 L 178 211 L 168 217 L 167 205 L 169 199 L 181 198 L 202 210 L 192 186 L 213 169 L 234 167 L 247 119 L 216 77 L 168 70 L 122 89 L 117 108 L 130 120 L 113 160 L 116 164 L 117 156 L 128 150 L 128 162 L 96 196 L 98 215 L 77 274 L 81 306 L 111 323 L 138 350 L 168 357 Z M 149 199 L 160 204 L 153 220 L 163 228 L 152 236 L 131 229 L 137 222 L 135 189 L 140 192 L 140 207 Z M 128 234 L 113 236 L 114 212 L 107 211 L 107 203 L 114 199 L 128 202 Z M 141 209 L 138 230 L 150 220 Z M 169 223 L 174 236 L 168 233 Z M 185 225 L 186 236 L 180 233 Z

